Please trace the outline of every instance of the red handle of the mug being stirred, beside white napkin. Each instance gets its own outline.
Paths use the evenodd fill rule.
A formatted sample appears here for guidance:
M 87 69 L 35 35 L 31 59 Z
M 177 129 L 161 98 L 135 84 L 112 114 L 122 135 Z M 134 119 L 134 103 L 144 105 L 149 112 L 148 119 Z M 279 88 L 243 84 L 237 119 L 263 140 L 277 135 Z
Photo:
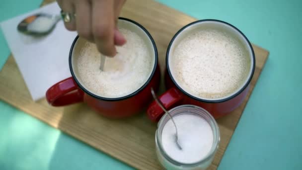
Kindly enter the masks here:
M 46 91 L 46 99 L 52 106 L 65 106 L 82 102 L 84 92 L 78 88 L 73 77 L 51 86 Z

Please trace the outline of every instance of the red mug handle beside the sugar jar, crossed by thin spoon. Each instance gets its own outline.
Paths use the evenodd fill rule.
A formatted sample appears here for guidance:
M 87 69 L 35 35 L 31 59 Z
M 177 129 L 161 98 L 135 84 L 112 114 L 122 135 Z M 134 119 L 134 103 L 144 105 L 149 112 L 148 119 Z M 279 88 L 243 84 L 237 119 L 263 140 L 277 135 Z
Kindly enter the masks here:
M 158 97 L 158 99 L 162 102 L 163 106 L 167 110 L 175 106 L 182 98 L 183 93 L 175 87 L 168 89 L 166 92 L 164 92 Z M 147 114 L 153 122 L 157 122 L 164 114 L 164 111 L 159 107 L 159 105 L 155 101 L 152 101 L 152 103 L 147 109 Z

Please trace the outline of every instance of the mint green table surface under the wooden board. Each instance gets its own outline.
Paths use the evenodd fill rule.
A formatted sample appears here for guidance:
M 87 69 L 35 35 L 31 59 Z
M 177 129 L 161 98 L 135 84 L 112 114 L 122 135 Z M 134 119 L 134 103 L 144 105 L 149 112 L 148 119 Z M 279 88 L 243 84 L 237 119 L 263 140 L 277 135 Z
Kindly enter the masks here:
M 40 1 L 2 0 L 0 21 Z M 270 51 L 219 170 L 302 170 L 302 0 L 159 1 L 230 22 Z M 8 55 L 0 34 L 0 68 Z M 3 101 L 0 130 L 0 170 L 132 169 Z

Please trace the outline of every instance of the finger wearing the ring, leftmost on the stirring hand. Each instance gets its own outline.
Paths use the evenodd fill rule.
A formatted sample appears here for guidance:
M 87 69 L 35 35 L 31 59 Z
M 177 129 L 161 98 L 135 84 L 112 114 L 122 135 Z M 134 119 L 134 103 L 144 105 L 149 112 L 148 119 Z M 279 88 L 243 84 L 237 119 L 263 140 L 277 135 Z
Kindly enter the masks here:
M 58 3 L 59 3 L 59 1 L 58 1 Z M 71 21 L 70 22 L 64 22 L 65 27 L 70 31 L 75 31 L 76 30 L 75 17 L 74 17 L 75 8 L 74 8 L 73 0 L 61 0 L 59 4 L 61 4 L 60 5 L 61 9 L 64 12 L 68 12 L 68 13 L 71 14 Z

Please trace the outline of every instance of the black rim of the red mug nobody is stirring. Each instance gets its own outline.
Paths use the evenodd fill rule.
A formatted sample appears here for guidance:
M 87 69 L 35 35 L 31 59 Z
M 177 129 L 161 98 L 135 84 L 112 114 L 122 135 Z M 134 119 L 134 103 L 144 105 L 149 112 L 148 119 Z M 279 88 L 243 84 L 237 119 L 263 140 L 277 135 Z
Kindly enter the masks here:
M 241 87 L 236 93 L 234 93 L 233 95 L 231 96 L 228 96 L 226 98 L 222 98 L 222 99 L 214 99 L 214 100 L 208 100 L 208 99 L 202 99 L 202 98 L 198 98 L 198 97 L 195 97 L 191 94 L 189 94 L 188 92 L 186 92 L 184 89 L 182 89 L 177 83 L 176 81 L 174 80 L 173 76 L 172 76 L 172 73 L 170 71 L 170 68 L 169 68 L 169 63 L 168 63 L 168 60 L 169 60 L 169 52 L 170 52 L 170 48 L 175 40 L 175 38 L 184 30 L 186 29 L 187 27 L 191 26 L 191 25 L 194 25 L 196 23 L 201 23 L 201 22 L 207 22 L 207 21 L 214 21 L 214 22 L 220 22 L 220 23 L 223 23 L 223 24 L 227 24 L 228 26 L 232 27 L 233 29 L 235 29 L 236 31 L 239 32 L 239 34 L 241 34 L 243 36 L 243 38 L 245 39 L 245 41 L 247 42 L 249 48 L 251 49 L 251 52 L 252 52 L 252 72 L 251 74 L 249 75 L 249 78 L 247 80 L 247 82 L 243 85 L 243 87 Z M 171 78 L 172 82 L 174 83 L 174 85 L 176 85 L 176 87 L 178 89 L 180 89 L 181 92 L 183 92 L 184 94 L 186 94 L 187 96 L 195 99 L 195 100 L 198 100 L 198 101 L 202 101 L 202 102 L 207 102 L 207 103 L 221 103 L 221 102 L 224 102 L 224 101 L 227 101 L 227 100 L 230 100 L 234 97 L 236 97 L 237 95 L 239 95 L 251 82 L 252 78 L 253 78 L 253 75 L 254 75 L 254 71 L 255 71 L 255 54 L 254 54 L 254 49 L 251 45 L 251 43 L 249 42 L 249 40 L 246 38 L 246 36 L 238 29 L 236 28 L 235 26 L 233 26 L 232 24 L 230 23 L 227 23 L 225 21 L 222 21 L 222 20 L 217 20 L 217 19 L 201 19 L 201 20 L 197 20 L 197 21 L 194 21 L 194 22 L 191 22 L 185 26 L 183 26 L 180 30 L 178 30 L 176 32 L 176 34 L 173 36 L 173 38 L 171 39 L 169 45 L 168 45 L 168 48 L 167 48 L 167 52 L 166 52 L 166 67 L 167 67 L 167 72 L 169 74 L 169 77 Z

